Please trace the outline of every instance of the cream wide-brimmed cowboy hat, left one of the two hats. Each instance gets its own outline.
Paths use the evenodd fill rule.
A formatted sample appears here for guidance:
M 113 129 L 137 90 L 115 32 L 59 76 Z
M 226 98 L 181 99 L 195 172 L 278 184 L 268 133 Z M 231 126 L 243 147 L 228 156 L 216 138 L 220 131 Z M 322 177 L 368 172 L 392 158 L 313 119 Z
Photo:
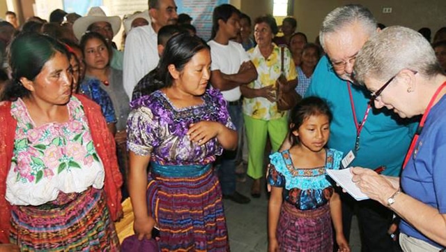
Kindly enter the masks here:
M 119 29 L 121 29 L 121 17 L 112 16 L 107 17 L 104 10 L 99 6 L 91 7 L 89 13 L 85 17 L 79 17 L 74 24 L 72 24 L 72 31 L 78 40 L 81 40 L 86 29 L 95 22 L 107 22 L 112 25 L 113 36 L 115 36 Z

